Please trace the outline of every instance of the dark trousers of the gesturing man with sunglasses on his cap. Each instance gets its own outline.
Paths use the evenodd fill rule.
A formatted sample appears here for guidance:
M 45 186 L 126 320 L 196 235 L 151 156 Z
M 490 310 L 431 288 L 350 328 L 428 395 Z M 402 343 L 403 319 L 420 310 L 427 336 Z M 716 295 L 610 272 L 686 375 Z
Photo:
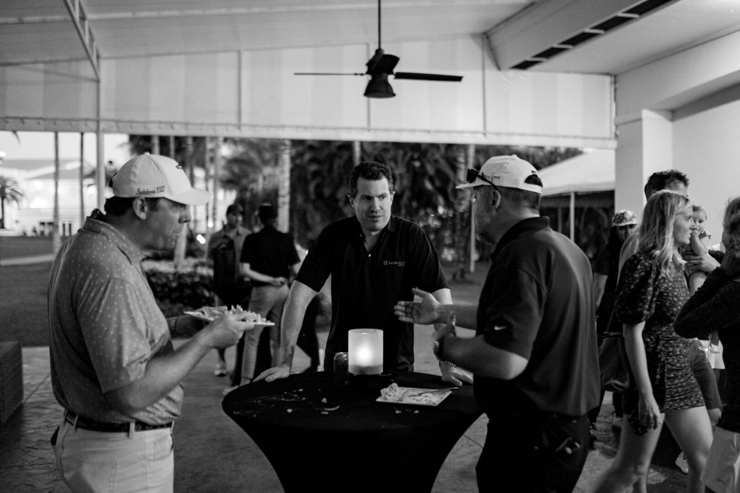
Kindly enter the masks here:
M 588 415 L 491 416 L 475 468 L 480 493 L 571 493 L 588 455 Z

